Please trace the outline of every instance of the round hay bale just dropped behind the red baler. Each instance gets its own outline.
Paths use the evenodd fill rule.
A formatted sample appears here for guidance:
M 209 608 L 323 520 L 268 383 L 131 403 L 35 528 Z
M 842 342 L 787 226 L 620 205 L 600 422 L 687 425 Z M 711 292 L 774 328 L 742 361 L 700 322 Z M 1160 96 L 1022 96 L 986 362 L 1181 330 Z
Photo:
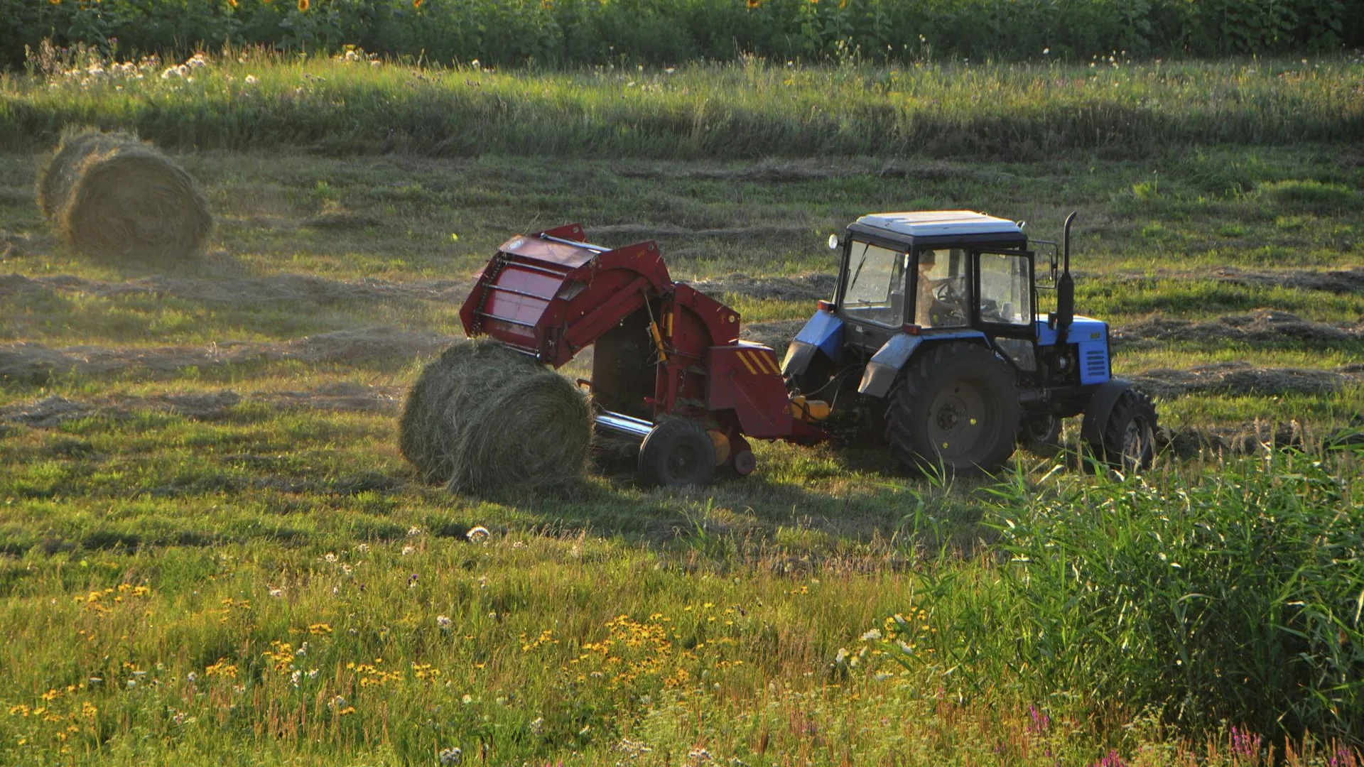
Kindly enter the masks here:
M 454 493 L 562 486 L 582 476 L 592 416 L 567 378 L 492 341 L 461 343 L 408 392 L 398 446 Z

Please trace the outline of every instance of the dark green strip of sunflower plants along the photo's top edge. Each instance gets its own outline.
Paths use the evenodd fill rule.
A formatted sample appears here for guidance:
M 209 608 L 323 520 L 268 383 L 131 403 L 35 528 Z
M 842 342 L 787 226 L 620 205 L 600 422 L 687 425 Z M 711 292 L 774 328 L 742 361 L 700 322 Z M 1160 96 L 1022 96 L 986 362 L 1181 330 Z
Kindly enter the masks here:
M 1364 46 L 1352 0 L 0 0 L 0 64 L 50 38 L 183 57 L 357 45 L 435 63 L 1222 56 Z

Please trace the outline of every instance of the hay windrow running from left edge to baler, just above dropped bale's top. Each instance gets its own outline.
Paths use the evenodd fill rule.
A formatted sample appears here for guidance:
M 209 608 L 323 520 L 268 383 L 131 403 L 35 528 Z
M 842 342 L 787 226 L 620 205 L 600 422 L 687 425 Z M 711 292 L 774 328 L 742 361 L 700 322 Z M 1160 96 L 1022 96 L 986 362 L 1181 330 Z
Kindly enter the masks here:
M 411 360 L 435 353 L 456 338 L 436 333 L 366 328 L 319 333 L 281 343 L 226 343 L 206 347 L 67 347 L 34 343 L 0 344 L 0 381 L 41 384 L 53 374 L 106 375 L 125 370 L 173 373 L 248 362 L 300 360 L 357 363 Z

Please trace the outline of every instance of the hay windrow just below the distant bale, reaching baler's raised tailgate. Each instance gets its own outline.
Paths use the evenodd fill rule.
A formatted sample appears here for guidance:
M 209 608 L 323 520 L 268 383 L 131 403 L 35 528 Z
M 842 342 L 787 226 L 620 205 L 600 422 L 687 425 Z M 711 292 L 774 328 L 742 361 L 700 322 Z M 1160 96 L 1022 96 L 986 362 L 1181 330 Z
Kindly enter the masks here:
M 143 277 L 127 283 L 86 280 L 71 274 L 0 276 L 0 296 L 25 292 L 70 291 L 94 296 L 149 295 L 205 303 L 334 303 L 346 300 L 419 299 L 462 302 L 469 284 L 460 280 L 390 283 L 386 280 L 327 280 L 308 274 L 274 274 L 232 280 Z

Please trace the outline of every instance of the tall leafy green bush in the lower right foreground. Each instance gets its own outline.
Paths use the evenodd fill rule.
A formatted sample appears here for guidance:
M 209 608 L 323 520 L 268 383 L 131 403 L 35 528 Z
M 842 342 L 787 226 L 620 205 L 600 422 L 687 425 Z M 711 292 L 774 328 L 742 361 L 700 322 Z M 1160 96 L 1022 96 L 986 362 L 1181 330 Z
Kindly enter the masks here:
M 1192 479 L 1019 478 L 997 490 L 994 558 L 930 576 L 876 639 L 963 695 L 1012 684 L 1194 730 L 1350 741 L 1364 733 L 1357 479 L 1356 457 L 1301 453 Z

